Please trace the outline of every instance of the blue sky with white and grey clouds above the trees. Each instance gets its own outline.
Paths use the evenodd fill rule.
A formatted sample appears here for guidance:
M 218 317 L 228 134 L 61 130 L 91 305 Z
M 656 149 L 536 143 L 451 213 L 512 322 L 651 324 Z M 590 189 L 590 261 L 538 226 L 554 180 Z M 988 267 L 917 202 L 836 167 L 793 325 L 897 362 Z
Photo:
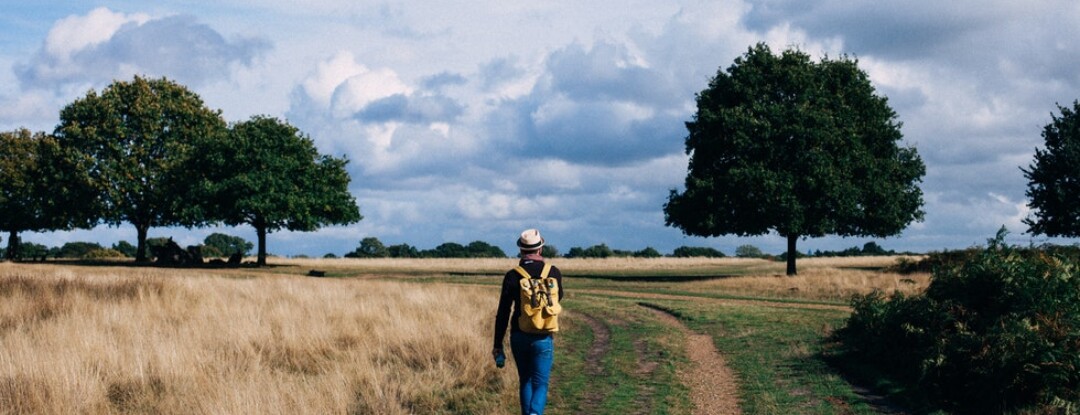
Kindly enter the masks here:
M 664 225 L 687 173 L 694 94 L 755 43 L 848 55 L 927 165 L 924 220 L 885 238 L 799 241 L 802 252 L 874 241 L 929 252 L 1075 243 L 1026 233 L 1021 168 L 1057 105 L 1080 98 L 1080 2 L 1044 0 L 0 0 L 0 130 L 52 132 L 59 110 L 134 76 L 167 77 L 229 122 L 286 120 L 349 159 L 364 219 L 268 237 L 278 255 L 341 255 L 361 239 L 514 252 L 539 228 L 566 252 L 605 243 L 752 244 Z M 251 227 L 151 228 L 198 244 Z M 5 236 L 4 236 L 5 237 Z M 27 233 L 57 246 L 135 241 L 130 224 Z

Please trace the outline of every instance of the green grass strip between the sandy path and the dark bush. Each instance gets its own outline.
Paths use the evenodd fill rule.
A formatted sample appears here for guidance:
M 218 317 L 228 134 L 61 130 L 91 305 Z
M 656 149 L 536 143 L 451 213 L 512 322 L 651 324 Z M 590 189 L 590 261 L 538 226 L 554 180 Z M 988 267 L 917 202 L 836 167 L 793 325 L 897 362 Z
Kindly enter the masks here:
M 843 324 L 838 310 L 660 300 L 691 330 L 713 337 L 739 378 L 745 414 L 877 414 L 823 351 Z

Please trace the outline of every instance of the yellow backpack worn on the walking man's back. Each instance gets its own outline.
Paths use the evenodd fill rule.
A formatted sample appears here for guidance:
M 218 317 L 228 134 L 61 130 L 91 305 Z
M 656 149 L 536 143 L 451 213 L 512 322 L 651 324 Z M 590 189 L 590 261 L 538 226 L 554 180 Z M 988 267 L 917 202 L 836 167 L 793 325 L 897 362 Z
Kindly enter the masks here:
M 546 334 L 558 331 L 558 313 L 563 306 L 558 304 L 558 281 L 548 277 L 551 264 L 543 265 L 540 278 L 532 278 L 525 268 L 514 268 L 522 276 L 518 281 L 522 295 L 522 316 L 517 318 L 517 326 L 525 333 Z

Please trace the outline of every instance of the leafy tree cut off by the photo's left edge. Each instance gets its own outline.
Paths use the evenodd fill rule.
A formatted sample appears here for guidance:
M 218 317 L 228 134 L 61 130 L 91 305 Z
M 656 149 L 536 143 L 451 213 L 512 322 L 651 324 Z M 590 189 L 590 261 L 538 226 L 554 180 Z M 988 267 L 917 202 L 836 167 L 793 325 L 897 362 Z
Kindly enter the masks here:
M 26 129 L 0 133 L 0 231 L 4 257 L 19 257 L 19 232 L 90 227 L 96 195 L 85 170 L 60 151 L 56 139 Z

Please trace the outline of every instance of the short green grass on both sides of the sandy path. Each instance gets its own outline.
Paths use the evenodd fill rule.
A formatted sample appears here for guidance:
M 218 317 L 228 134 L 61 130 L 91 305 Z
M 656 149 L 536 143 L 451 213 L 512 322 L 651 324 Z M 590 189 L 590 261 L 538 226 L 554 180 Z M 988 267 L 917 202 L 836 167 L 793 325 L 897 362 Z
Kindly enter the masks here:
M 843 323 L 837 310 L 657 300 L 691 330 L 706 333 L 737 373 L 745 414 L 878 414 L 822 358 L 827 333 Z M 550 412 L 689 414 L 688 388 L 677 371 L 688 367 L 677 329 L 632 300 L 582 295 L 567 307 L 557 339 Z M 609 331 L 599 362 L 591 361 L 596 333 L 588 314 Z M 599 372 L 590 365 L 599 364 Z M 651 372 L 643 365 L 654 364 Z

